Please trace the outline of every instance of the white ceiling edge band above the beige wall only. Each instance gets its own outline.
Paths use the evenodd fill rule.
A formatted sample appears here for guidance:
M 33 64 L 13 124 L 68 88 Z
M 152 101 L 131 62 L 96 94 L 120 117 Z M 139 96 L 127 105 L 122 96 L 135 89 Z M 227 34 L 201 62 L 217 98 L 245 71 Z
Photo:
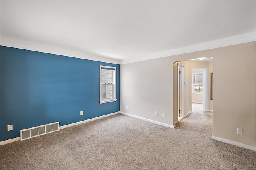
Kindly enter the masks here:
M 178 48 L 178 49 L 162 51 L 159 53 L 146 55 L 144 57 L 123 59 L 123 60 L 120 60 L 120 64 L 128 64 L 128 63 L 134 63 L 134 62 L 138 62 L 138 61 L 157 59 L 157 58 L 161 58 L 161 57 L 168 57 L 168 56 L 172 56 L 172 55 L 191 53 L 191 52 L 195 52 L 195 51 L 202 51 L 202 50 L 207 50 L 207 49 L 226 47 L 226 46 L 230 46 L 230 45 L 248 43 L 248 42 L 252 42 L 252 41 L 256 41 L 256 31 L 251 32 L 251 33 L 236 35 L 233 37 L 209 41 L 206 43 L 200 43 L 200 44 L 196 44 L 196 45 L 182 47 L 182 48 Z M 206 57 L 206 56 L 198 56 L 198 57 L 200 58 L 200 57 Z

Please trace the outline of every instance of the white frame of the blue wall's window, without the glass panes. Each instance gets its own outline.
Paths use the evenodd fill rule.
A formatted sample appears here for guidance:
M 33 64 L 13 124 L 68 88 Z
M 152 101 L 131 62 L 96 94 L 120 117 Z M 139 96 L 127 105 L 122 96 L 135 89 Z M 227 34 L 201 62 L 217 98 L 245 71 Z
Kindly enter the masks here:
M 104 68 L 110 68 L 110 69 L 113 69 L 114 73 L 113 73 L 113 80 L 112 80 L 112 83 L 111 85 L 114 86 L 113 90 L 112 90 L 112 96 L 113 98 L 109 98 L 109 99 L 102 99 L 102 85 L 106 85 L 106 83 L 102 83 L 101 82 L 101 78 L 102 78 L 102 69 Z M 107 69 L 106 69 L 107 70 Z M 115 102 L 117 99 L 116 99 L 116 67 L 111 67 L 111 66 L 103 66 L 103 65 L 100 65 L 100 104 L 102 103 L 107 103 L 107 102 Z

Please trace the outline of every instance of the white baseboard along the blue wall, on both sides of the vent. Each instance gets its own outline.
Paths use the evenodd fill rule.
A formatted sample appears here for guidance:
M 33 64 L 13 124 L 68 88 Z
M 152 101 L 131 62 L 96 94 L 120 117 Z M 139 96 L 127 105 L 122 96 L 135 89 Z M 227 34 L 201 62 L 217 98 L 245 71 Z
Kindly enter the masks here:
M 82 123 L 86 123 L 88 121 L 94 121 L 94 120 L 97 120 L 97 119 L 101 119 L 103 117 L 108 117 L 108 116 L 116 115 L 118 113 L 120 113 L 120 112 L 118 111 L 118 112 L 115 112 L 115 113 L 110 113 L 110 114 L 107 114 L 107 115 L 103 115 L 103 116 L 99 116 L 99 117 L 94 117 L 92 119 L 87 119 L 87 120 L 84 120 L 84 121 L 79 121 L 79 122 L 76 122 L 76 123 L 71 123 L 71 124 L 68 124 L 68 125 L 60 126 L 60 129 L 64 129 L 66 127 L 70 127 L 70 126 L 74 126 L 74 125 L 79 125 L 79 124 L 82 124 Z M 5 141 L 1 141 L 0 142 L 0 146 L 1 145 L 5 145 L 7 143 L 16 142 L 16 141 L 20 141 L 20 137 L 16 137 L 16 138 L 8 139 L 8 140 L 5 140 Z

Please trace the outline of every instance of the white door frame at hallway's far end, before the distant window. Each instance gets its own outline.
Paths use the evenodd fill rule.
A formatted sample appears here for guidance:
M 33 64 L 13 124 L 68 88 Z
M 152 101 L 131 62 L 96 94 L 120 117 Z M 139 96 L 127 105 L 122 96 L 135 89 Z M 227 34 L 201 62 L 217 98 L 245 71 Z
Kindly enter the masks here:
M 203 111 L 206 111 L 207 108 L 207 68 L 193 68 L 192 70 L 203 70 Z M 193 86 L 193 73 L 192 73 L 192 79 L 191 79 L 191 85 Z M 193 87 L 192 87 L 192 90 Z M 191 95 L 192 95 L 193 91 L 191 91 Z M 191 106 L 192 106 L 192 100 L 191 100 Z

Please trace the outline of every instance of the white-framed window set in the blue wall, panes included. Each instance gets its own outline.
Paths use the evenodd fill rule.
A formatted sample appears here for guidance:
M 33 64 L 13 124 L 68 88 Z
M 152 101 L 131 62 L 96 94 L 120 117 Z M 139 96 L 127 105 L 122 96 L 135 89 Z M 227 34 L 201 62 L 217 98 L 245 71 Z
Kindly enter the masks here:
M 100 103 L 116 101 L 116 67 L 100 66 Z

